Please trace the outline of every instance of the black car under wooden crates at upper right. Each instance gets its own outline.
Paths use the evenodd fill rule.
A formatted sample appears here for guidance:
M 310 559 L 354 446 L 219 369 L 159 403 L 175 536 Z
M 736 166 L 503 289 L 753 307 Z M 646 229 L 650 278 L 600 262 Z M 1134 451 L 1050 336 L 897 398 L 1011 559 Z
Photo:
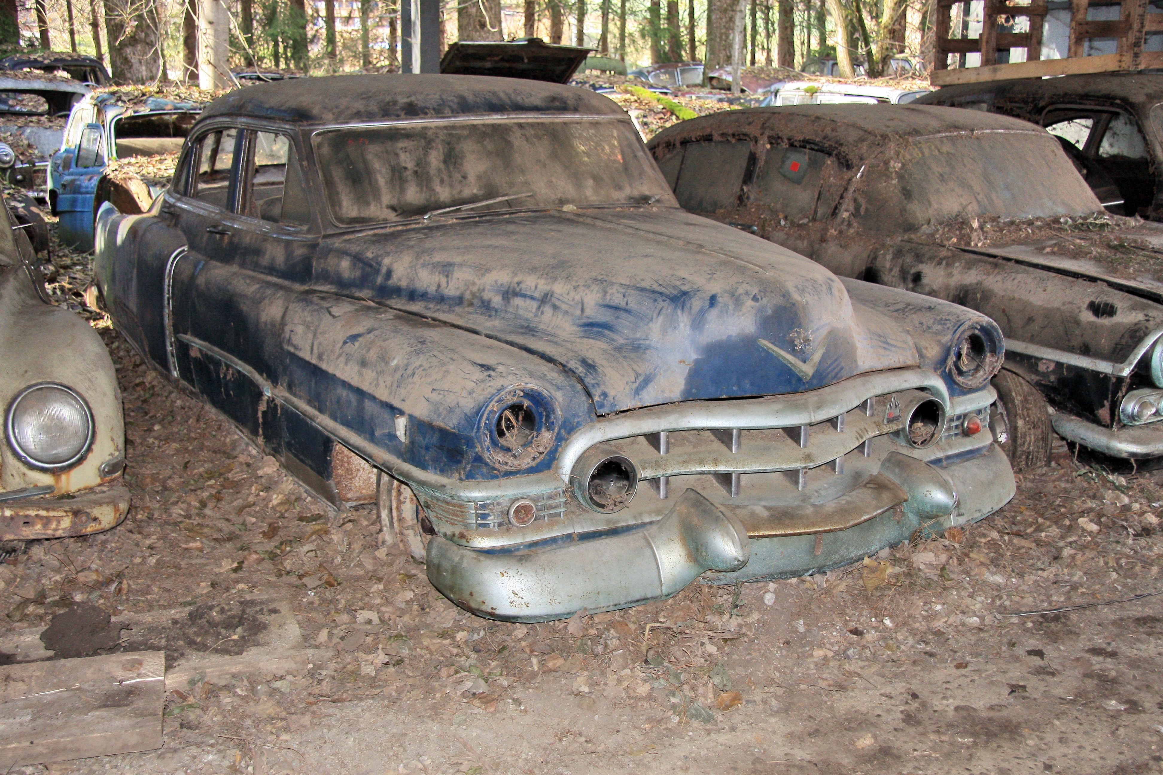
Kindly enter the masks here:
M 916 103 L 1000 113 L 1046 127 L 1107 210 L 1163 221 L 1163 74 L 962 84 Z

